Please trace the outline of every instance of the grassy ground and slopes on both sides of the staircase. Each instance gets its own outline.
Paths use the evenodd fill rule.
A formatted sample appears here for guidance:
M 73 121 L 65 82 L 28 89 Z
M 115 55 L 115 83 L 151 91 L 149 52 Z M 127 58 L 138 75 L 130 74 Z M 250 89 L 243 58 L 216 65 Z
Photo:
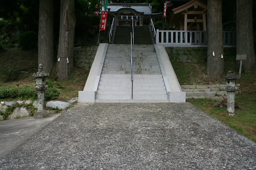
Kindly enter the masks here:
M 15 66 L 20 74 L 15 81 L 3 82 L 1 86 L 24 85 L 34 86 L 35 79 L 32 74 L 37 72 L 37 51 L 23 51 L 12 48 L 0 52 L 0 67 L 5 65 Z M 236 56 L 231 52 L 225 52 L 225 72 L 234 70 L 236 66 Z M 206 75 L 206 63 L 180 63 L 172 62 L 176 75 L 181 85 L 212 85 L 225 84 L 225 80 L 217 81 Z M 216 117 L 224 124 L 237 130 L 244 136 L 256 142 L 256 67 L 249 72 L 242 73 L 241 79 L 237 81 L 240 84 L 239 93 L 236 95 L 236 103 L 239 109 L 236 109 L 236 116 L 229 116 L 226 108 L 214 107 L 219 102 L 209 99 L 189 99 L 190 102 L 201 108 L 211 116 Z M 78 96 L 78 91 L 82 90 L 86 84 L 89 70 L 74 66 L 74 71 L 68 80 L 59 82 L 61 94 L 57 100 L 68 101 Z M 48 78 L 54 81 L 54 77 Z

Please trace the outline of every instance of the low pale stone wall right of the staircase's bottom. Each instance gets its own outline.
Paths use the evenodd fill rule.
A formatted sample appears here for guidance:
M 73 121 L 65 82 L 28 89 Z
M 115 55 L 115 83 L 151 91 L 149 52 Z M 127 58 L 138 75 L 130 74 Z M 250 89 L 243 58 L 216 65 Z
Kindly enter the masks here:
M 226 85 L 182 85 L 182 91 L 186 92 L 186 99 L 209 98 L 216 101 L 227 99 Z

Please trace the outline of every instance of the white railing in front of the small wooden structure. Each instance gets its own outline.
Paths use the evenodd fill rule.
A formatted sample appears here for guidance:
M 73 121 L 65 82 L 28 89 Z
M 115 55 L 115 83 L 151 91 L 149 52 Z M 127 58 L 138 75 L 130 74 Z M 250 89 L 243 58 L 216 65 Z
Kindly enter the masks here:
M 207 31 L 167 31 L 157 30 L 156 44 L 162 45 L 207 45 Z M 236 33 L 223 32 L 224 46 L 236 46 Z

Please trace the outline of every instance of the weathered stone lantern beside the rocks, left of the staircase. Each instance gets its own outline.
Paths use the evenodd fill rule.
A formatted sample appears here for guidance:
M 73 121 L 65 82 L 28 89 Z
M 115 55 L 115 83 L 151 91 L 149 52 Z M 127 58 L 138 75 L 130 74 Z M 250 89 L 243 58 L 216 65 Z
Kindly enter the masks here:
M 49 77 L 49 73 L 46 73 L 42 68 L 42 64 L 39 64 L 38 71 L 33 74 L 36 79 L 35 89 L 37 90 L 37 112 L 34 114 L 34 118 L 45 118 L 49 116 L 49 112 L 46 110 L 45 104 L 45 90 L 48 88 L 46 85 L 46 77 Z

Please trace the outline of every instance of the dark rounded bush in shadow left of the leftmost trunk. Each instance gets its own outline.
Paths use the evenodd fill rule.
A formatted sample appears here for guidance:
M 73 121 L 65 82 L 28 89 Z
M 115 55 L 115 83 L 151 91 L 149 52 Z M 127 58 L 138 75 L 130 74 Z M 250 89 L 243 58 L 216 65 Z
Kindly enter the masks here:
M 37 46 L 37 34 L 33 31 L 27 31 L 19 34 L 18 44 L 23 50 L 29 50 Z

